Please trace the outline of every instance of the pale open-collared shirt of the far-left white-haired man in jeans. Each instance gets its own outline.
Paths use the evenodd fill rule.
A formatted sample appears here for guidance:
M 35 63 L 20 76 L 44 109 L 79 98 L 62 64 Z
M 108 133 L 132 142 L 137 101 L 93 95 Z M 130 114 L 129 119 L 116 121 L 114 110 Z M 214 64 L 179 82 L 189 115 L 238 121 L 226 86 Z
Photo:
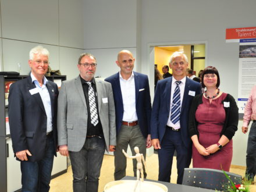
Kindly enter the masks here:
M 50 98 L 48 89 L 46 87 L 48 80 L 44 76 L 44 83 L 42 84 L 42 87 L 40 87 L 40 84 L 37 81 L 37 79 L 35 79 L 35 76 L 32 73 L 30 73 L 30 76 L 32 79 L 32 83 L 33 82 L 35 83 L 35 87 L 37 88 L 41 96 L 42 104 L 44 104 L 44 110 L 47 115 L 47 133 L 49 133 L 52 131 L 52 108 L 51 108 L 51 98 Z

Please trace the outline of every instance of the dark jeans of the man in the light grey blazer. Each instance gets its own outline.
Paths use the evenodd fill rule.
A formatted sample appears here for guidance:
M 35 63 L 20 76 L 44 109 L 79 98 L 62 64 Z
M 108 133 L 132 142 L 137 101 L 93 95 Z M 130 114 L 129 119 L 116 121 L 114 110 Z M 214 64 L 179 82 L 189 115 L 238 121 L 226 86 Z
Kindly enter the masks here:
M 86 138 L 78 152 L 69 151 L 74 192 L 97 192 L 105 151 L 104 138 Z

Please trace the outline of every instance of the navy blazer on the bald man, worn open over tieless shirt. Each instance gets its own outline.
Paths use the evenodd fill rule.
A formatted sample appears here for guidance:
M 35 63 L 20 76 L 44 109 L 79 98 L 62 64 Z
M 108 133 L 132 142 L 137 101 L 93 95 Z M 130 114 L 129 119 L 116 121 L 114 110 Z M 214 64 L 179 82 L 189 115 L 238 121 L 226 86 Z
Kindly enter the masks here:
M 138 116 L 138 125 L 141 133 L 145 138 L 150 134 L 150 117 L 151 117 L 151 99 L 148 76 L 145 74 L 134 73 L 135 95 L 136 95 L 136 112 Z M 123 120 L 123 98 L 120 87 L 119 72 L 105 79 L 112 85 L 113 97 L 116 111 L 116 134 L 119 133 Z

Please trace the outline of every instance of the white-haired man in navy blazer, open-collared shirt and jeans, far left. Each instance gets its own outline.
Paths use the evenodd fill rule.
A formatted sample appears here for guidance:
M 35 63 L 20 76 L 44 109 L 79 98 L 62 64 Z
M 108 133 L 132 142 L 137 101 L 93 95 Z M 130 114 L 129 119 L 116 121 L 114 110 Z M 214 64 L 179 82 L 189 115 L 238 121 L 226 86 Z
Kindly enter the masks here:
M 48 81 L 49 52 L 30 51 L 30 76 L 9 90 L 9 125 L 12 146 L 22 171 L 22 191 L 49 191 L 57 146 L 58 86 Z

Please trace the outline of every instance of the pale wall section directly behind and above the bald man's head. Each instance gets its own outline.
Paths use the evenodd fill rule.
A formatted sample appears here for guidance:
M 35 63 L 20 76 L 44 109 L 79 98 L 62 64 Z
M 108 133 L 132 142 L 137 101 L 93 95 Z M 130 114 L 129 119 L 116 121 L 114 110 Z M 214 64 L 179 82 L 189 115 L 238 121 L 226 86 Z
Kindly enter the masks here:
M 96 76 L 105 78 L 119 71 L 115 61 L 122 49 L 136 58 L 137 30 L 136 0 L 84 0 L 84 48 L 97 58 Z

